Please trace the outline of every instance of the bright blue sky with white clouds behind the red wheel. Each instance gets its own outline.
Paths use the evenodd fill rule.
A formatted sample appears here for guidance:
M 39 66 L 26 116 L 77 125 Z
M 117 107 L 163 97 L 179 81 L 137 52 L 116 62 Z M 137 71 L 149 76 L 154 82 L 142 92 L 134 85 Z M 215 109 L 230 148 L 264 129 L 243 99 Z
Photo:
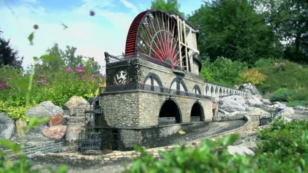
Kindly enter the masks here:
M 200 8 L 201 0 L 179 0 L 185 14 Z M 77 48 L 76 55 L 94 57 L 104 66 L 104 52 L 122 55 L 132 20 L 149 9 L 151 0 L 0 0 L 0 30 L 23 56 L 23 67 L 33 63 L 55 43 L 62 50 Z M 95 16 L 90 16 L 90 11 Z M 62 23 L 68 26 L 63 29 Z M 33 25 L 38 29 L 34 31 Z M 34 31 L 33 45 L 28 35 Z

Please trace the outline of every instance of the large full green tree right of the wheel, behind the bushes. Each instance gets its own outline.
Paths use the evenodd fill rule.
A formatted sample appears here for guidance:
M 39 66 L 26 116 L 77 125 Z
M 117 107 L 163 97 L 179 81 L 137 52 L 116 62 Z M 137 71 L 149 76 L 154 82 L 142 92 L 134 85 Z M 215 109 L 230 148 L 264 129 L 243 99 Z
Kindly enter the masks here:
M 205 2 L 188 20 L 199 29 L 203 59 L 223 56 L 251 65 L 261 57 L 281 56 L 278 38 L 246 0 Z

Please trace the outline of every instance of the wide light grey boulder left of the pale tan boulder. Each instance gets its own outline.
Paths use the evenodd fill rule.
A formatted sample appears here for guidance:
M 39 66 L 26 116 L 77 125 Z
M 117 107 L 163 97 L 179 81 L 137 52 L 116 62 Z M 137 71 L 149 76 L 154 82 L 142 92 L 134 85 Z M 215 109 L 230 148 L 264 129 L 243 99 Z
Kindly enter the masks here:
M 56 114 L 63 114 L 63 109 L 54 105 L 51 101 L 45 101 L 29 109 L 26 116 L 37 116 L 38 118 L 43 118 L 45 116 L 53 116 Z

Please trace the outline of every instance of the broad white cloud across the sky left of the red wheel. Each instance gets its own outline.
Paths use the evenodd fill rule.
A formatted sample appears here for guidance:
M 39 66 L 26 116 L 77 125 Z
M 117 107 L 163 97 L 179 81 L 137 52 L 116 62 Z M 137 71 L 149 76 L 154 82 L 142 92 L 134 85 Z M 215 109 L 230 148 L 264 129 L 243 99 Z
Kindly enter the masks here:
M 102 1 L 83 2 L 84 8 L 56 14 L 48 13 L 42 7 L 20 5 L 12 7 L 14 16 L 4 6 L 0 8 L 3 36 L 11 39 L 11 45 L 19 50 L 20 56 L 24 56 L 24 67 L 33 63 L 32 57 L 45 54 L 54 43 L 58 43 L 61 49 L 65 49 L 66 45 L 76 47 L 76 54 L 94 57 L 103 66 L 105 51 L 113 55 L 124 52 L 128 28 L 135 14 L 108 10 L 107 7 L 112 6 L 108 0 L 106 4 Z M 106 9 L 102 4 L 106 5 Z M 90 16 L 89 10 L 94 10 L 96 15 Z M 68 26 L 65 30 L 62 21 Z M 27 36 L 33 31 L 34 24 L 39 28 L 34 32 L 34 45 L 30 46 Z

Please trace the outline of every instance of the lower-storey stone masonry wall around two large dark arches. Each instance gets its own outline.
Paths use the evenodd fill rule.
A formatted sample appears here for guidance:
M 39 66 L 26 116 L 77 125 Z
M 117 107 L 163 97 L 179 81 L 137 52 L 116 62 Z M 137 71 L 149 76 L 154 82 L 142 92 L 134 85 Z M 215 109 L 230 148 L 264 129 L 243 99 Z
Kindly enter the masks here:
M 204 110 L 204 121 L 212 121 L 212 103 L 207 99 L 157 94 L 149 91 L 128 91 L 104 94 L 99 103 L 110 127 L 142 128 L 158 125 L 160 109 L 167 99 L 174 100 L 180 109 L 182 122 L 190 122 L 190 112 L 197 101 Z M 99 125 L 99 124 L 98 124 Z

